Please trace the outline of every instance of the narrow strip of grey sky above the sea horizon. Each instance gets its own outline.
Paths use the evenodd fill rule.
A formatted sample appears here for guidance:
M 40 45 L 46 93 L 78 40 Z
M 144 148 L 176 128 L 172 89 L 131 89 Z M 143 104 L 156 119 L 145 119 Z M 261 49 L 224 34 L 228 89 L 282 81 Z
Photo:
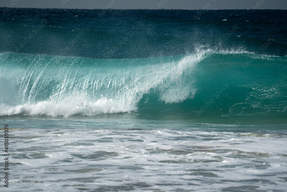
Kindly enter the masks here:
M 287 9 L 287 0 L 0 0 L 0 7 L 61 9 Z

